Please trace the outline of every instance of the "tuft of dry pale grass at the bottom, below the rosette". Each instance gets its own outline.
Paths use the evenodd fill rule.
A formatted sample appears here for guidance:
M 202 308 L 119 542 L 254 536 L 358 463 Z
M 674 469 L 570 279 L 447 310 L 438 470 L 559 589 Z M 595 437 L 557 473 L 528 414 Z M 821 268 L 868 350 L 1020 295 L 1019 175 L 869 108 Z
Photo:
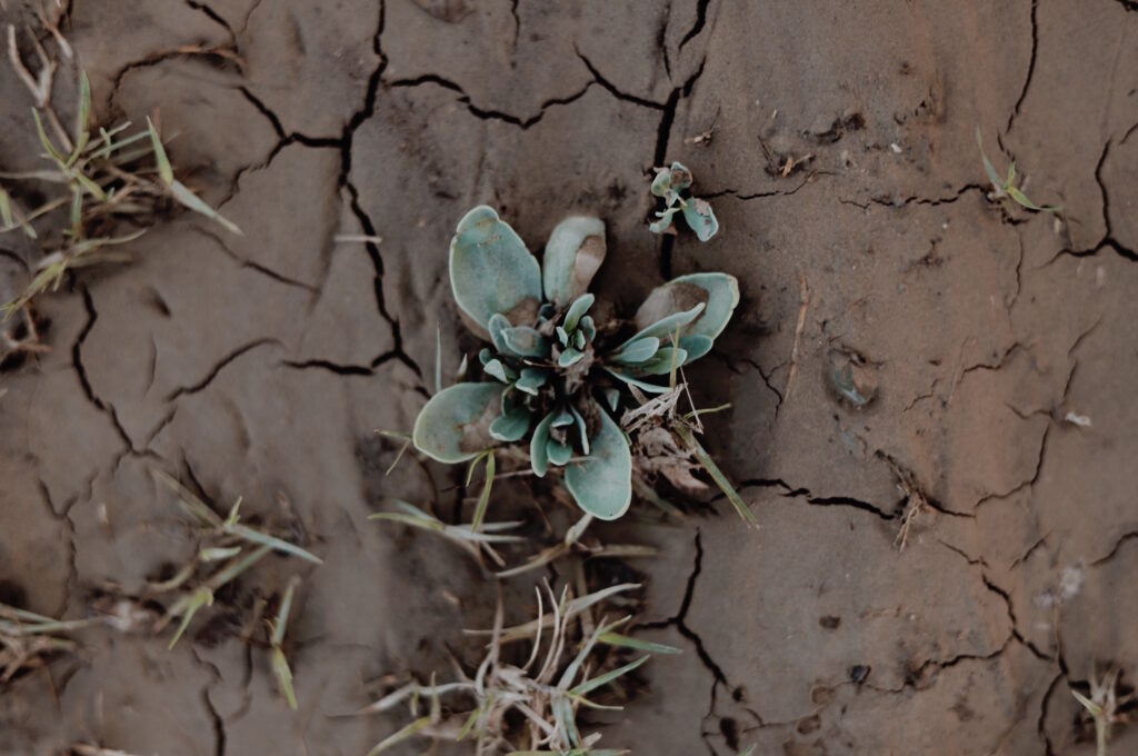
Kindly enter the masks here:
M 627 590 L 628 586 L 618 586 Z M 657 643 L 646 643 L 630 639 L 617 632 L 628 622 L 628 618 L 605 623 L 603 618 L 591 623 L 585 631 L 585 623 L 575 623 L 574 618 L 604 598 L 612 595 L 610 590 L 601 591 L 579 599 L 569 595 L 568 587 L 558 599 L 549 584 L 545 585 L 551 611 L 546 613 L 541 590 L 537 590 L 537 619 L 522 626 L 520 635 L 511 636 L 511 631 L 503 628 L 503 607 L 498 597 L 497 611 L 494 617 L 494 628 L 487 631 L 490 636 L 486 658 L 479 665 L 473 677 L 459 671 L 454 682 L 436 684 L 434 679 L 429 685 L 411 682 L 384 696 L 374 704 L 364 708 L 362 714 L 387 712 L 399 704 L 410 702 L 411 715 L 415 717 L 410 724 L 378 743 L 369 754 L 377 756 L 396 742 L 402 742 L 414 736 L 426 736 L 435 739 L 462 741 L 473 739 L 477 753 L 501 753 L 503 749 L 514 754 L 575 754 L 579 756 L 616 756 L 624 750 L 594 748 L 600 740 L 600 733 L 583 734 L 577 722 L 582 707 L 619 710 L 619 706 L 599 704 L 589 697 L 594 691 L 616 684 L 624 675 L 633 672 L 648 662 L 653 650 L 662 654 L 678 654 L 678 649 Z M 619 591 L 618 591 L 619 592 Z M 574 641 L 575 630 L 582 627 L 578 640 Z M 514 628 L 516 630 L 516 628 Z M 544 644 L 543 636 L 549 630 L 549 639 Z M 508 642 L 528 640 L 530 652 L 521 666 L 508 664 L 502 657 L 503 646 Z M 604 668 L 608 659 L 594 659 L 599 646 L 608 644 L 615 648 L 626 648 L 645 651 L 633 662 Z M 576 647 L 571 657 L 569 650 Z M 538 662 L 541 665 L 538 666 Z M 596 666 L 594 666 L 596 665 Z M 430 713 L 420 716 L 419 700 L 428 697 L 431 701 Z M 452 714 L 444 718 L 440 699 L 462 697 L 472 702 L 465 713 Z M 459 708 L 459 712 L 463 709 Z

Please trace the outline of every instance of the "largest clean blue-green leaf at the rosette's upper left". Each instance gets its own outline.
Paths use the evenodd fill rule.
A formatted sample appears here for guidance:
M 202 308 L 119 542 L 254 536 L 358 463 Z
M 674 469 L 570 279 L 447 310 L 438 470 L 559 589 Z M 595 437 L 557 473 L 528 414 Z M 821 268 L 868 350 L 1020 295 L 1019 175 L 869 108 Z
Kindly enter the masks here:
M 459 221 L 451 239 L 450 272 L 454 301 L 483 328 L 488 329 L 494 314 L 537 313 L 541 266 L 514 230 L 486 205 Z

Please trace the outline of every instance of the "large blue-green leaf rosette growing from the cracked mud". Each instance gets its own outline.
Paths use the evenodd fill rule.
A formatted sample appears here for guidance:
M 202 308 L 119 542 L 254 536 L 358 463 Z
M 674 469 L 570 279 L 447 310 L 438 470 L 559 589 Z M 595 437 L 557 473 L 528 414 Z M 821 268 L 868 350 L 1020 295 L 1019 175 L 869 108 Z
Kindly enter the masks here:
M 451 241 L 451 287 L 464 320 L 490 344 L 479 354 L 487 380 L 427 402 L 412 433 L 419 451 L 450 463 L 486 459 L 489 479 L 496 445 L 528 442 L 534 474 L 563 468 L 585 512 L 607 520 L 625 513 L 632 453 L 611 413 L 632 387 L 668 392 L 679 367 L 711 350 L 739 303 L 739 284 L 726 273 L 682 276 L 653 290 L 632 326 L 600 327 L 587 289 L 604 256 L 596 217 L 561 221 L 539 264 L 492 208 L 467 213 Z

